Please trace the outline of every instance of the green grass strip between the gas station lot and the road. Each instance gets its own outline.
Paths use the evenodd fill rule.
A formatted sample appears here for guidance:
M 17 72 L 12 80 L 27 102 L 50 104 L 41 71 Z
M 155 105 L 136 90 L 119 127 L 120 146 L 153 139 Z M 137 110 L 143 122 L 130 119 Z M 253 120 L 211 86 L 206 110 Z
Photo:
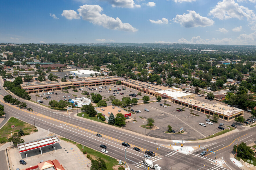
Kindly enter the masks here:
M 83 150 L 82 150 L 83 145 L 77 144 L 76 142 L 71 141 L 71 140 L 66 139 L 66 138 L 60 138 L 60 139 L 75 144 L 77 146 L 77 148 L 80 149 L 81 152 L 83 152 Z M 110 157 L 106 154 L 103 154 L 99 151 L 96 151 L 96 150 L 91 149 L 91 148 L 86 147 L 86 146 L 84 146 L 84 151 L 86 151 L 87 154 L 89 154 L 92 158 L 93 158 L 93 156 L 94 156 L 95 159 L 96 158 L 102 158 L 106 162 L 107 169 L 113 169 L 113 166 L 119 165 L 118 160 L 116 160 L 115 158 L 112 158 L 112 157 Z

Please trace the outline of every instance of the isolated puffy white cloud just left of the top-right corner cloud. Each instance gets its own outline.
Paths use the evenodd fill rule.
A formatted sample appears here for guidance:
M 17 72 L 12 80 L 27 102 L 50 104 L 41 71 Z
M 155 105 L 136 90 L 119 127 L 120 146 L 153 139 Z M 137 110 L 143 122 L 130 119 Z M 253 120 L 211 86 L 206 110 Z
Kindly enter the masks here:
M 176 15 L 173 19 L 174 22 L 180 23 L 182 26 L 186 28 L 190 27 L 206 27 L 213 25 L 214 21 L 207 17 L 200 16 L 195 11 L 189 11 L 188 14 Z

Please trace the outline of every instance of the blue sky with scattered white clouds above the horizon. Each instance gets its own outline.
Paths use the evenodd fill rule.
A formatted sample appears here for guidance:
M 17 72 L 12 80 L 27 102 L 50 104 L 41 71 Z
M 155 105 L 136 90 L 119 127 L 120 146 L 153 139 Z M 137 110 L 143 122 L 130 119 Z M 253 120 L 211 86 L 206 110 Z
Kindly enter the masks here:
M 256 0 L 1 1 L 0 43 L 256 45 Z

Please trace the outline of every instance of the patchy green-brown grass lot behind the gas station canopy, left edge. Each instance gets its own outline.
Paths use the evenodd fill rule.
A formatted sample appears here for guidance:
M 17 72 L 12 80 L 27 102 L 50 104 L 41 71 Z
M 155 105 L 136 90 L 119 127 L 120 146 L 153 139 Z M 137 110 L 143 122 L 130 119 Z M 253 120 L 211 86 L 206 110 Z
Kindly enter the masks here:
M 15 128 L 11 128 L 11 125 L 15 125 Z M 24 133 L 30 133 L 35 128 L 34 125 L 30 125 L 14 117 L 11 117 L 9 121 L 0 129 L 0 141 L 8 141 L 7 138 L 11 137 L 11 131 L 13 134 L 18 132 L 20 129 L 22 129 Z

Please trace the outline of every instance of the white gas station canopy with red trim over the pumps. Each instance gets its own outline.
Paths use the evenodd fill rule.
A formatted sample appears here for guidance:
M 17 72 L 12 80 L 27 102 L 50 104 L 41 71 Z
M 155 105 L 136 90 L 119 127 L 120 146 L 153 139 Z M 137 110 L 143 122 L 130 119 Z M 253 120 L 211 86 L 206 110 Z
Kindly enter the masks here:
M 52 145 L 55 143 L 59 143 L 59 142 L 60 142 L 60 139 L 56 135 L 53 135 L 46 138 L 36 139 L 35 141 L 19 143 L 17 146 L 19 149 L 19 153 L 21 153 L 21 152 L 37 149 L 40 147 Z

